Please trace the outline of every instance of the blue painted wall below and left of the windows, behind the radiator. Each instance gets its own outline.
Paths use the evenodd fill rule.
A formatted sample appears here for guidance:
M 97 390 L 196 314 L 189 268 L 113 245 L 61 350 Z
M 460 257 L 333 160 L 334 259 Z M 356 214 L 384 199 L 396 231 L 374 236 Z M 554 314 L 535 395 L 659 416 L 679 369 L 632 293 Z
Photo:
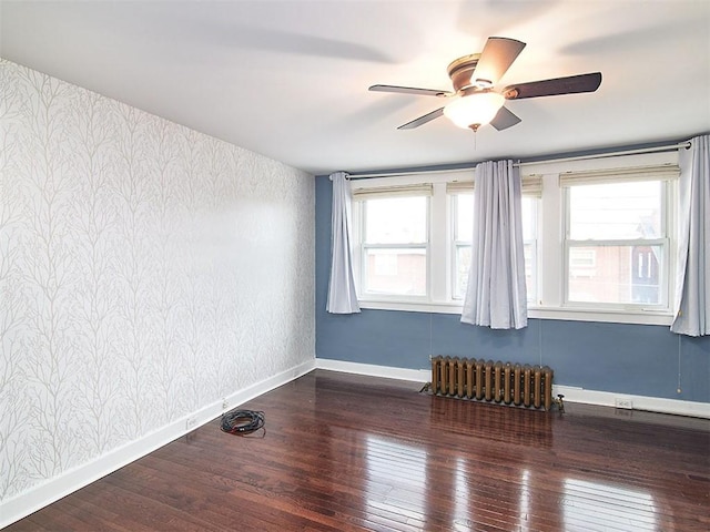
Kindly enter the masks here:
M 520 330 L 465 325 L 434 313 L 325 311 L 331 264 L 332 187 L 316 177 L 316 357 L 407 369 L 429 355 L 542 364 L 558 385 L 710 402 L 710 337 L 665 326 L 530 319 Z M 677 391 L 680 376 L 680 393 Z

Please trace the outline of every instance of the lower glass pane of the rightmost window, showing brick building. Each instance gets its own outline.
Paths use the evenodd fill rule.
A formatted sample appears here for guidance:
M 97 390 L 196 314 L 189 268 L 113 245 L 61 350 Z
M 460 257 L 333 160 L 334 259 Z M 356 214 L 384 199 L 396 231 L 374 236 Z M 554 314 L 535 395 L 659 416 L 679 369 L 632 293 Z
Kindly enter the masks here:
M 569 300 L 579 303 L 662 303 L 662 246 L 571 247 Z

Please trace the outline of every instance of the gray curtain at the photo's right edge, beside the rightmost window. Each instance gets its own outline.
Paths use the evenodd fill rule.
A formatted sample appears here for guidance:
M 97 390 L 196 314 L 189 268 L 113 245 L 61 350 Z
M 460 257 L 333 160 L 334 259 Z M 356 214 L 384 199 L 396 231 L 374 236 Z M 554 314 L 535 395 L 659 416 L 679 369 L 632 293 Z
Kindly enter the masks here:
M 679 154 L 679 233 L 676 319 L 679 335 L 710 334 L 710 135 Z

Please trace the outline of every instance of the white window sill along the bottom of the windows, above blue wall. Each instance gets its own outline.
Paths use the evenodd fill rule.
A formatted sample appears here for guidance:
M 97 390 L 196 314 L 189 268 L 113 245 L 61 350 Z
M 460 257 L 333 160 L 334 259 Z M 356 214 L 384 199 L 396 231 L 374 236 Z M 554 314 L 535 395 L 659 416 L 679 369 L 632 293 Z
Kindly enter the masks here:
M 463 305 L 455 301 L 385 301 L 359 300 L 361 308 L 374 310 L 399 310 L 405 313 L 462 314 Z M 673 316 L 669 313 L 623 310 L 598 310 L 588 308 L 530 307 L 528 317 L 534 319 L 559 319 L 568 321 L 600 321 L 608 324 L 663 325 L 670 326 Z

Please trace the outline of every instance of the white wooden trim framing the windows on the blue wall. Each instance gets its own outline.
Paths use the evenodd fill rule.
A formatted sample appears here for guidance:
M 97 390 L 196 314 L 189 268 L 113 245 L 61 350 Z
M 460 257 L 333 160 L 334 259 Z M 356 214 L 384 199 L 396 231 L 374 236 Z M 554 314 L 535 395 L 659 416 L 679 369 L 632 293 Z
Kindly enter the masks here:
M 662 164 L 678 164 L 678 152 L 659 152 L 638 155 L 610 156 L 598 160 L 581 161 L 561 161 L 561 162 L 541 162 L 526 164 L 521 168 L 524 175 L 537 175 L 541 177 L 542 193 L 540 208 L 538 208 L 538 235 L 537 235 L 537 286 L 538 301 L 528 308 L 528 317 L 537 319 L 562 319 L 572 321 L 602 321 L 617 324 L 641 324 L 641 325 L 666 325 L 669 326 L 673 316 L 670 308 L 648 309 L 642 306 L 632 306 L 633 308 L 590 308 L 584 304 L 566 305 L 564 301 L 565 294 L 565 246 L 564 232 L 566 224 L 562 219 L 564 207 L 564 190 L 559 186 L 560 174 L 566 172 L 595 172 L 604 170 L 616 170 L 636 166 L 657 166 Z M 382 310 L 403 310 L 415 313 L 438 313 L 460 315 L 463 308 L 462 300 L 452 299 L 449 294 L 452 282 L 452 219 L 448 216 L 450 205 L 447 204 L 449 195 L 446 194 L 446 183 L 470 181 L 473 178 L 473 170 L 467 173 L 460 171 L 426 173 L 403 176 L 376 177 L 371 180 L 362 180 L 353 183 L 355 186 L 399 186 L 414 183 L 432 183 L 433 195 L 429 204 L 429 253 L 427 255 L 427 274 L 429 297 L 419 298 L 417 300 L 402 300 L 398 297 L 359 297 L 361 308 L 382 309 Z M 667 216 L 676 219 L 676 201 L 674 186 L 669 187 L 667 194 Z M 444 208 L 442 207 L 444 205 Z M 362 234 L 362 206 L 359 202 L 353 205 L 354 218 L 354 243 L 359 244 Z M 444 218 L 444 219 L 440 219 Z M 671 224 L 673 227 L 673 224 Z M 673 300 L 673 283 L 674 257 L 676 257 L 676 236 L 669 234 L 670 241 L 668 247 L 670 272 L 668 273 L 668 294 L 667 301 Z M 355 278 L 359 287 L 361 283 L 361 256 L 359 246 L 355 246 Z M 433 260 L 434 256 L 446 257 L 445 260 Z M 544 264 L 539 260 L 544 257 Z M 445 269 L 448 272 L 442 273 Z

